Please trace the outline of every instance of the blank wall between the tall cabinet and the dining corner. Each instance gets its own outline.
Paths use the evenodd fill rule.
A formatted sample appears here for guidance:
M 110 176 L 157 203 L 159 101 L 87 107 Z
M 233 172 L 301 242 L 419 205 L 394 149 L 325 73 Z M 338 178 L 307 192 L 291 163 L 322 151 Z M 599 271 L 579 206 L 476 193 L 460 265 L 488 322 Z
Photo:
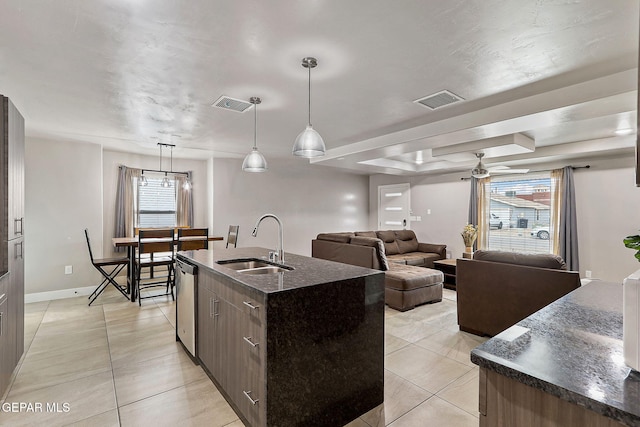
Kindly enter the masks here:
M 25 293 L 99 283 L 84 229 L 102 256 L 102 148 L 27 138 L 25 192 Z

